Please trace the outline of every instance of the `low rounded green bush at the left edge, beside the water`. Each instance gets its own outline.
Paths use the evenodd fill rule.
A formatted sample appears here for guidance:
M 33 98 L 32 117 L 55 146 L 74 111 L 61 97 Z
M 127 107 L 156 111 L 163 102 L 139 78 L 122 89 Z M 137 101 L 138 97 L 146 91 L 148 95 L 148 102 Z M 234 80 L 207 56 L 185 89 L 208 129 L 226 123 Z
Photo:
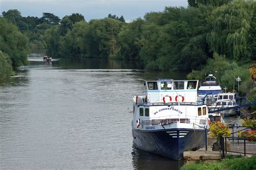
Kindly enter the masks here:
M 11 59 L 8 55 L 0 51 L 0 79 L 9 77 L 12 74 Z

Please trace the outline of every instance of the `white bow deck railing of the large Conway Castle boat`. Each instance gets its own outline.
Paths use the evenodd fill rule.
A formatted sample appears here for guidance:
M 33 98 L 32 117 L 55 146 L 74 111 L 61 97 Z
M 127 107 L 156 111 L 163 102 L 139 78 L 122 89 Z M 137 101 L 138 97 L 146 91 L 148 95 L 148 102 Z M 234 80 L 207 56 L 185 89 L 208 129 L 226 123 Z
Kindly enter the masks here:
M 155 126 L 155 125 L 170 125 L 170 124 L 197 124 L 200 126 L 207 125 L 208 118 L 187 116 L 183 118 L 177 118 L 177 115 L 170 115 L 164 117 L 157 117 L 151 119 L 141 119 L 143 125 Z

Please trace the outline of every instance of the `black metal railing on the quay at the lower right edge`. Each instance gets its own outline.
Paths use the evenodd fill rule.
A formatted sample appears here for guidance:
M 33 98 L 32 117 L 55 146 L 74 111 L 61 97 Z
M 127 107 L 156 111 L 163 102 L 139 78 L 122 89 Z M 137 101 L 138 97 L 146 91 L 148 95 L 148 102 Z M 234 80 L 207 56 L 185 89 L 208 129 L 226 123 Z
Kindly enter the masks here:
M 256 154 L 256 142 L 245 138 L 225 137 L 225 152 Z

